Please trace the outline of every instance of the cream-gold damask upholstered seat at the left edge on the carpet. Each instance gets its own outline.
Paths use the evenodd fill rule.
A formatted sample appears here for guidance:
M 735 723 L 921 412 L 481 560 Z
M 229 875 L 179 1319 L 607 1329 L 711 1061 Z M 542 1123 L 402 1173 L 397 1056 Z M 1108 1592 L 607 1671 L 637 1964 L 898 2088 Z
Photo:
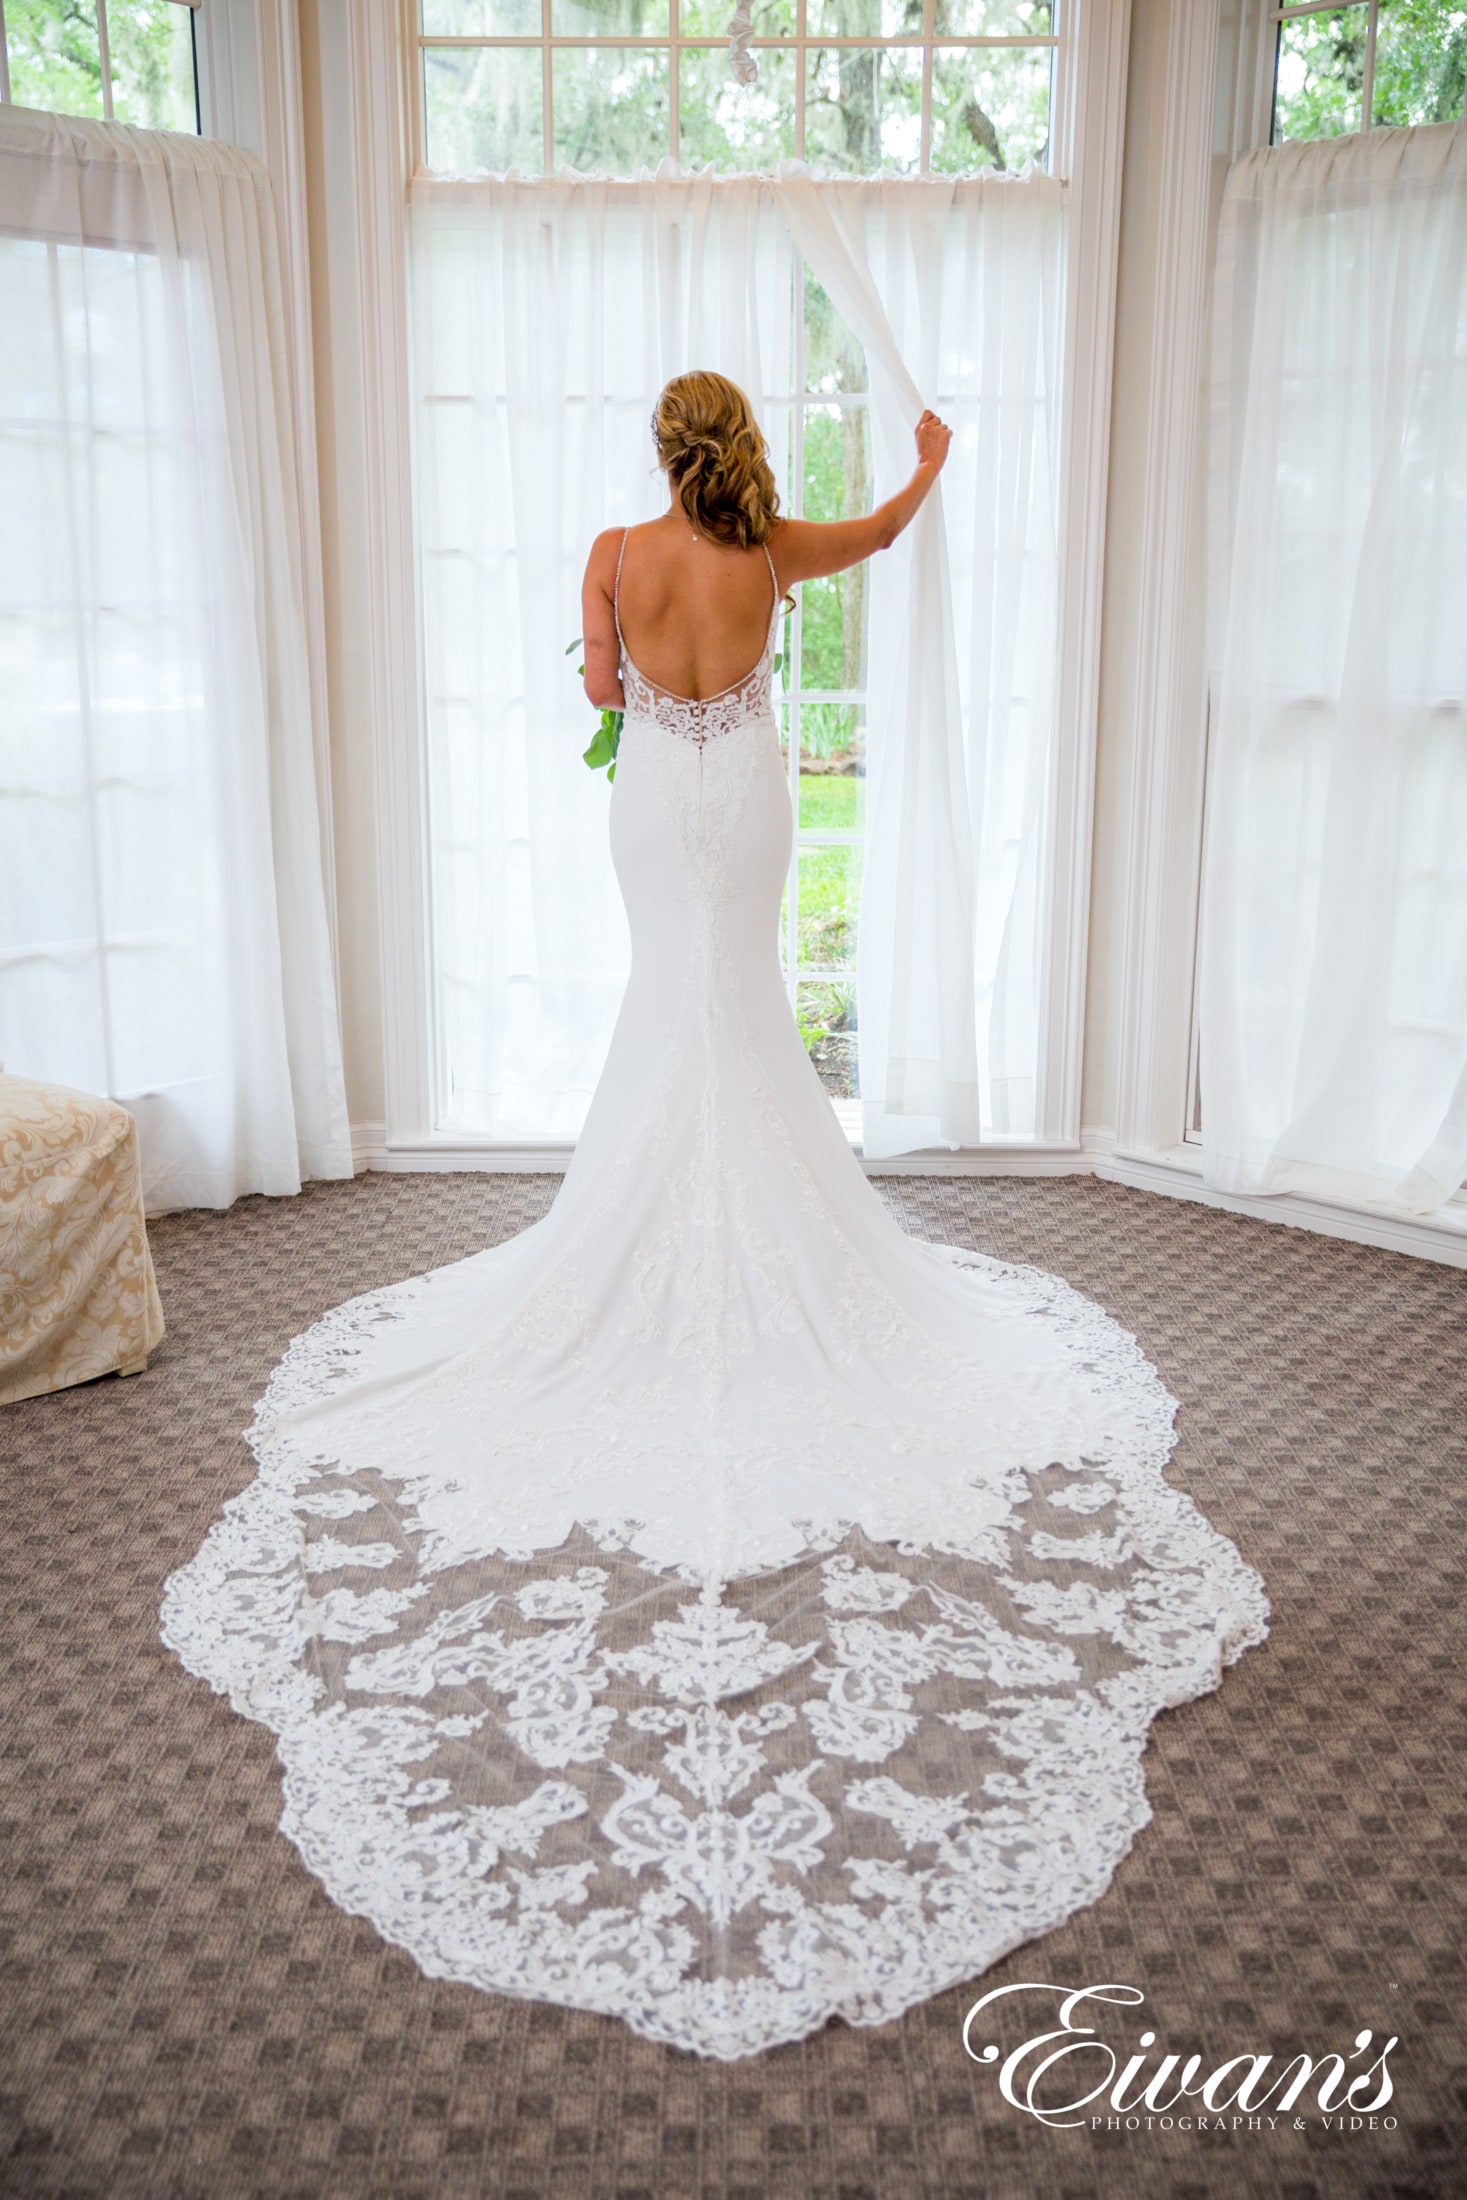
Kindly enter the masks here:
M 0 1074 L 0 1404 L 136 1375 L 161 1342 L 136 1122 Z

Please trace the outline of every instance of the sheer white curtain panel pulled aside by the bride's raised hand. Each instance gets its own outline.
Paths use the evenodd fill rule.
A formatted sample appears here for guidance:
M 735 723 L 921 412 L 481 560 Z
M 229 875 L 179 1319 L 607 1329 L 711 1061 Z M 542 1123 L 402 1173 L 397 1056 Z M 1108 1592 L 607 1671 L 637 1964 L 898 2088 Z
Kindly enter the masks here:
M 878 480 L 911 473 L 924 403 L 955 427 L 939 488 L 871 590 L 862 1146 L 882 1159 L 1027 1135 L 1054 739 L 1062 187 L 831 187 L 783 172 L 776 198 L 864 345 Z

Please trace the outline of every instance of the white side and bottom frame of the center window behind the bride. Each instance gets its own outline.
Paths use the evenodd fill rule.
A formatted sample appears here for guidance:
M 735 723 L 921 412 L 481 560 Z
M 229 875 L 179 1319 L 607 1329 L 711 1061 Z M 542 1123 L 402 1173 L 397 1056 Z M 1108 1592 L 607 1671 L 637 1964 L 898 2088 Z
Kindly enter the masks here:
M 387 1168 L 545 1168 L 563 1142 L 468 1142 L 433 1129 L 427 741 L 409 469 L 407 183 L 418 24 L 413 0 L 321 0 L 339 97 L 323 150 L 339 191 L 332 262 L 332 403 L 361 425 L 361 466 L 339 488 L 334 532 L 361 603 L 350 669 L 352 746 L 374 755 L 383 1010 L 383 1115 L 354 1142 Z M 1073 191 L 1065 337 L 1060 667 L 1051 891 L 1043 942 L 1038 1131 L 913 1168 L 1076 1166 L 1100 671 L 1100 590 L 1111 414 L 1115 260 L 1130 0 L 1069 0 L 1058 24 L 1051 165 Z M 343 563 L 343 570 L 345 570 Z M 341 801 L 341 796 L 339 796 Z M 891 1166 L 891 1164 L 889 1164 Z

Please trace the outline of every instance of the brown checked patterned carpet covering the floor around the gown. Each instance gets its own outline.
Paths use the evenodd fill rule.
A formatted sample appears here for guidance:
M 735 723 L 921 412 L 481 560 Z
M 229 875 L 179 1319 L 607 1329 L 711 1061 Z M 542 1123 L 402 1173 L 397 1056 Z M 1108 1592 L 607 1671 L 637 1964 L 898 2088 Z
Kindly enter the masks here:
M 735 2066 L 424 1980 L 279 1839 L 268 1738 L 161 1648 L 158 1591 L 249 1478 L 240 1430 L 286 1340 L 523 1228 L 554 1179 L 165 1217 L 154 1368 L 0 1415 L 0 2193 L 1467 2191 L 1463 1274 L 1093 1179 L 882 1190 L 917 1234 L 1056 1269 L 1137 1331 L 1183 1401 L 1174 1476 L 1269 1582 L 1269 1643 L 1159 1720 L 1155 1822 L 1104 1901 L 983 1987 Z M 1021 1980 L 1139 1987 L 1106 2037 L 1128 2053 L 1148 2024 L 1203 2072 L 1397 2033 L 1397 2127 L 1324 2130 L 1306 2094 L 1276 2130 L 1047 2130 L 961 2046 L 974 1995 Z M 1054 2006 L 979 2039 L 1016 2046 Z

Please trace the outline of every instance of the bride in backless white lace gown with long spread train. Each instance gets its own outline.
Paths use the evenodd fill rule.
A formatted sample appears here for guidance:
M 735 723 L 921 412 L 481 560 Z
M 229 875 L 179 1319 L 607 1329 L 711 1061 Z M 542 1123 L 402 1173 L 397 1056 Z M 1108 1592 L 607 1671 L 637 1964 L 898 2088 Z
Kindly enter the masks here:
M 295 1340 L 163 1635 L 429 1976 L 739 2057 L 1095 1901 L 1150 1720 L 1267 1606 L 1135 1340 L 908 1239 L 790 1016 L 781 596 L 891 543 L 948 429 L 836 526 L 779 519 L 721 376 L 653 429 L 669 513 L 585 576 L 633 959 L 561 1192 Z

